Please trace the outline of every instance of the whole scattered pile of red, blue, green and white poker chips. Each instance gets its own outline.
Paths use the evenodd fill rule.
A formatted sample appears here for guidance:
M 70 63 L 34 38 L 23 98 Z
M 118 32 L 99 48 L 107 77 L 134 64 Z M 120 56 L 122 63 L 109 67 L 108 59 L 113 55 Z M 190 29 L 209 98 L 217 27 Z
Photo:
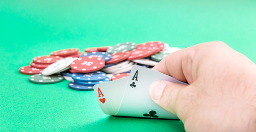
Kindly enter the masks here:
M 93 90 L 95 84 L 121 79 L 130 75 L 133 65 L 152 68 L 168 54 L 180 48 L 169 47 L 160 41 L 118 43 L 114 46 L 78 48 L 54 51 L 50 56 L 33 58 L 30 65 L 21 67 L 21 74 L 31 75 L 35 84 L 53 84 L 69 80 L 73 90 Z

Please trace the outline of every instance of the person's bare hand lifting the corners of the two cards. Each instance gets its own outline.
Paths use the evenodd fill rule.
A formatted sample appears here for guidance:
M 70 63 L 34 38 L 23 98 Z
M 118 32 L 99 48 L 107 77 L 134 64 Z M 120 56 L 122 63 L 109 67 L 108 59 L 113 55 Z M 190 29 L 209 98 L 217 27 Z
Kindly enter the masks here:
M 256 65 L 221 41 L 169 54 L 154 68 L 188 86 L 155 81 L 152 100 L 186 131 L 255 131 Z

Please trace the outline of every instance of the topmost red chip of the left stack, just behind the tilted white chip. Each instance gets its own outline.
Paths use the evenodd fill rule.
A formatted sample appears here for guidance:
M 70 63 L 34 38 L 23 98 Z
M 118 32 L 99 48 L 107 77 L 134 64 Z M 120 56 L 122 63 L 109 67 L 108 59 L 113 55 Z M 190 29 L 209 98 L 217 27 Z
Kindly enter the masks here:
M 58 60 L 63 59 L 63 57 L 59 57 L 59 56 L 39 56 L 39 57 L 35 57 L 33 58 L 33 62 L 34 63 L 38 63 L 38 64 L 52 64 L 55 63 Z

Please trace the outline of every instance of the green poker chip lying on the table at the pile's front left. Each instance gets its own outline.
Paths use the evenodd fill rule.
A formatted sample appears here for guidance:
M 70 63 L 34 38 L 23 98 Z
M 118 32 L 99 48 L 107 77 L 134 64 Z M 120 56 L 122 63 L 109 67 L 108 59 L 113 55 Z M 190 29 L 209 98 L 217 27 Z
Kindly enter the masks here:
M 61 82 L 63 79 L 61 75 L 44 76 L 40 73 L 31 75 L 29 81 L 34 84 L 54 84 Z

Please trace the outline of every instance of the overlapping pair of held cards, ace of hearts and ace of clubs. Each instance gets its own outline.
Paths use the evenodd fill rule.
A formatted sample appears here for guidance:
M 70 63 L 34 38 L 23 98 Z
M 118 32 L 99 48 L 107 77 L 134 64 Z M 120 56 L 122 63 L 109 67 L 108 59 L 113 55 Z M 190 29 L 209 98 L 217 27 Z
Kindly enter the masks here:
M 113 116 L 178 119 L 156 105 L 149 95 L 156 80 L 188 85 L 156 70 L 134 65 L 129 77 L 94 85 L 100 108 Z

